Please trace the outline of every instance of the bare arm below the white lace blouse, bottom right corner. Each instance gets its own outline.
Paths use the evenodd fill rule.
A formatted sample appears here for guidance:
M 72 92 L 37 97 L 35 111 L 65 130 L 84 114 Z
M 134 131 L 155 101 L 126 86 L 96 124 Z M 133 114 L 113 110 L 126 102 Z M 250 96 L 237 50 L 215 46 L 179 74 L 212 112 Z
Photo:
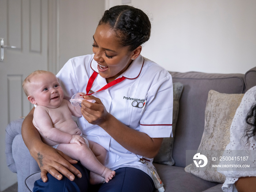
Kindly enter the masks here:
M 238 192 L 256 192 L 256 177 L 240 177 L 235 186 Z

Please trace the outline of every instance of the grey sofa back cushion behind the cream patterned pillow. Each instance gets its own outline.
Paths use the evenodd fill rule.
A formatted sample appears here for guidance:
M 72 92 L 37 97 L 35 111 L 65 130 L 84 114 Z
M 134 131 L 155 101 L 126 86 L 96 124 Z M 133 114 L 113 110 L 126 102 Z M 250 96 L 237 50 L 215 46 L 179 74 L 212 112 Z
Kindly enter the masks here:
M 173 158 L 176 166 L 186 166 L 186 150 L 197 150 L 204 131 L 204 110 L 208 92 L 244 93 L 243 74 L 207 74 L 170 72 L 173 82 L 184 86 L 175 137 Z

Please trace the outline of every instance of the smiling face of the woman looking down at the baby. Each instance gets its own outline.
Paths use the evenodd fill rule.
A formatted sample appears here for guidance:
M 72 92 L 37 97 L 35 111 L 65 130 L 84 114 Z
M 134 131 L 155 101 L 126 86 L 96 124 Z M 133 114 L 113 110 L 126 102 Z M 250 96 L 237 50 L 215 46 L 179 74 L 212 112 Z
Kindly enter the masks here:
M 118 44 L 116 33 L 108 25 L 99 25 L 93 35 L 94 60 L 98 63 L 99 75 L 111 82 L 132 63 L 133 52 L 128 46 Z

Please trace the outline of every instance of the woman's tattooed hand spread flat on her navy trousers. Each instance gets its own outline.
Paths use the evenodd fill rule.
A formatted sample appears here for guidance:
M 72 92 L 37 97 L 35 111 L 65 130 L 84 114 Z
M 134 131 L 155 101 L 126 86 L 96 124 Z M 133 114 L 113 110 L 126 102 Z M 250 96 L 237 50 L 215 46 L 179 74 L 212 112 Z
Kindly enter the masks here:
M 59 150 L 54 149 L 46 144 L 41 146 L 41 151 L 31 155 L 37 161 L 41 169 L 42 181 L 48 180 L 46 174 L 50 173 L 57 180 L 62 179 L 62 174 L 69 180 L 73 181 L 76 175 L 81 178 L 82 175 L 74 166 L 71 164 L 77 163 L 76 160 L 71 159 Z M 62 174 L 60 174 L 62 173 Z

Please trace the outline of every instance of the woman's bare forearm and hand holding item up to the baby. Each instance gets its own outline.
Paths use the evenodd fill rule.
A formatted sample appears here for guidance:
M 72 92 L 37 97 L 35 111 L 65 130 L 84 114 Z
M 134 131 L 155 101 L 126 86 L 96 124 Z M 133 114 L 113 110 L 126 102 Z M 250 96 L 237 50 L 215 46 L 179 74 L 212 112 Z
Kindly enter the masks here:
M 163 138 L 150 138 L 146 133 L 129 128 L 108 113 L 100 99 L 89 97 L 96 100 L 96 103 L 86 100 L 82 102 L 82 115 L 89 123 L 99 125 L 121 146 L 132 153 L 147 158 L 154 158 L 157 155 Z

